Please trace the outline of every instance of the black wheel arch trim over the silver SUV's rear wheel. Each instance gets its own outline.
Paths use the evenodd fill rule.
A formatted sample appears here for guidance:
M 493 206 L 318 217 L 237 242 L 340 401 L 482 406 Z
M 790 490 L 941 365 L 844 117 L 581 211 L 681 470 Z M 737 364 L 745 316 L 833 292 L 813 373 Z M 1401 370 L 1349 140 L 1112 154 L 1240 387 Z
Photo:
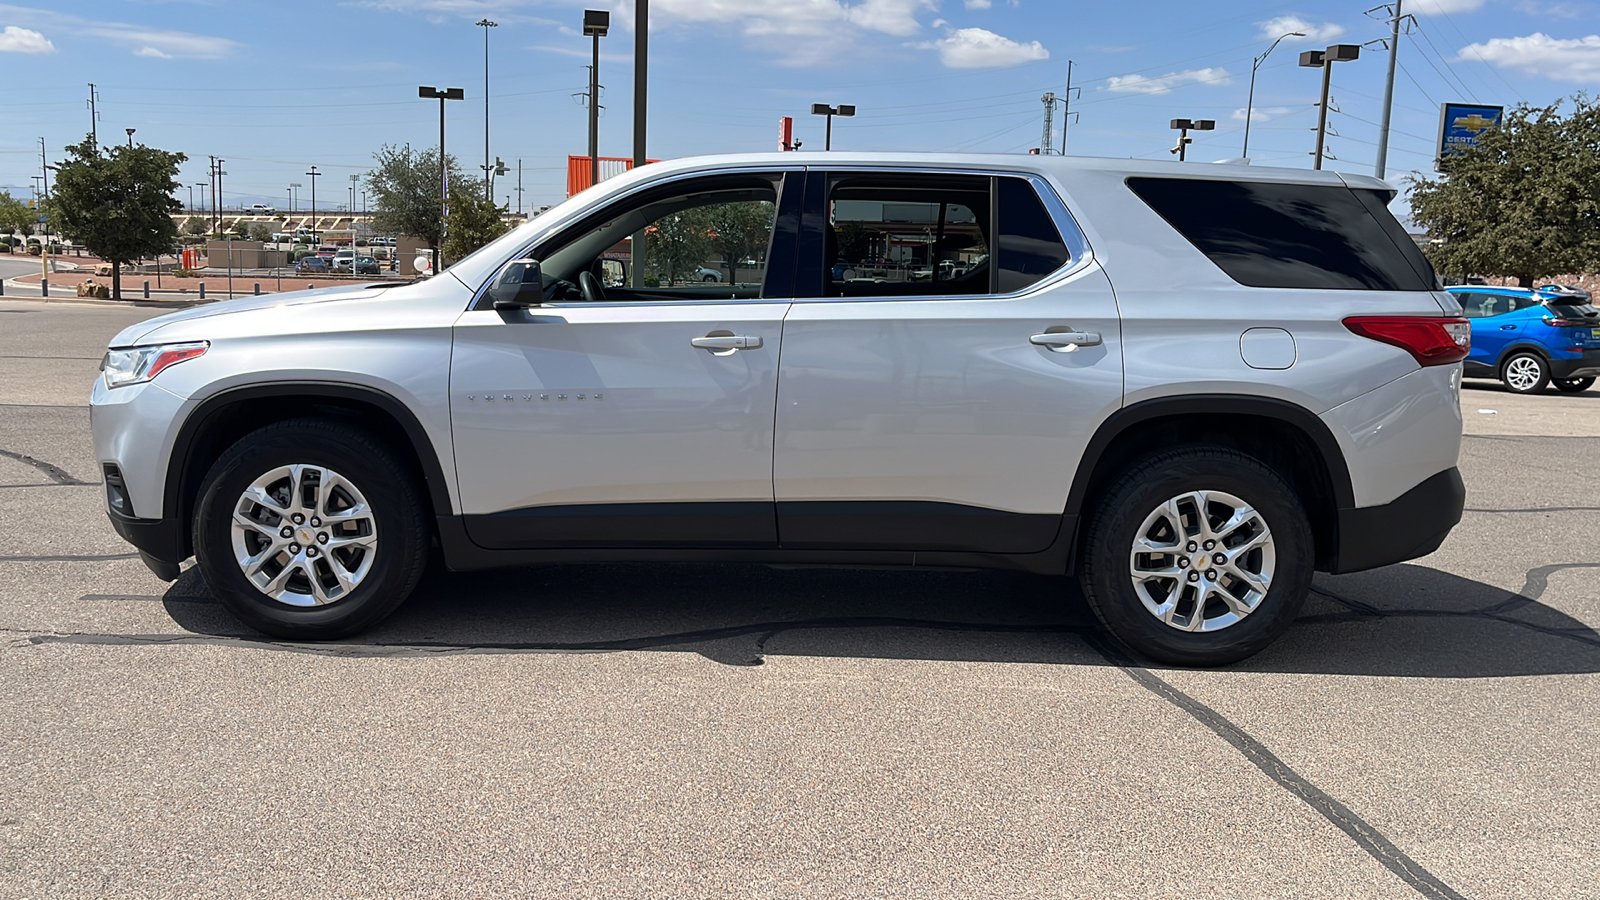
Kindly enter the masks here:
M 1338 559 L 1339 509 L 1355 506 L 1344 452 L 1315 413 L 1274 397 L 1190 394 L 1157 397 L 1117 410 L 1101 423 L 1078 461 L 1066 514 L 1082 520 L 1118 469 L 1173 444 L 1230 447 L 1272 466 L 1307 508 L 1317 569 L 1331 567 Z

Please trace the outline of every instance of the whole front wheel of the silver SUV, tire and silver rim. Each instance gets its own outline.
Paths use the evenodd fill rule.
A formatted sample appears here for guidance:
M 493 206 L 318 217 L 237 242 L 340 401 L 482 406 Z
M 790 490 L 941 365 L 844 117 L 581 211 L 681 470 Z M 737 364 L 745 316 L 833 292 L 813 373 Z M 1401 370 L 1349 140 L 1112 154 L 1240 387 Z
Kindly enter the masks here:
M 370 628 L 427 562 L 416 479 L 355 428 L 293 420 L 242 437 L 195 508 L 195 559 L 216 597 L 274 637 Z

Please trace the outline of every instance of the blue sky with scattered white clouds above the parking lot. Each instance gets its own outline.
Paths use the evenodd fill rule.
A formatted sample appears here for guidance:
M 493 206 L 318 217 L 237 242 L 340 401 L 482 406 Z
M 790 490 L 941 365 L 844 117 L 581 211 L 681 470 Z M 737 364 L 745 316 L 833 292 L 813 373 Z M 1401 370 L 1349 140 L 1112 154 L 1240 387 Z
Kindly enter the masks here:
M 40 138 L 51 163 L 90 131 L 189 155 L 205 184 L 224 159 L 224 199 L 349 202 L 350 176 L 384 144 L 434 146 L 438 101 L 459 86 L 446 149 L 469 171 L 485 155 L 485 35 L 494 194 L 520 210 L 566 195 L 566 157 L 587 152 L 586 8 L 611 10 L 602 38 L 600 154 L 632 155 L 635 0 L 54 0 L 0 3 L 0 191 L 30 197 Z M 1392 3 L 1394 0 L 1390 0 Z M 1600 0 L 1402 0 L 1389 178 L 1432 173 L 1438 104 L 1544 106 L 1600 88 Z M 650 3 L 648 154 L 669 159 L 778 149 L 795 117 L 800 152 L 822 149 L 813 102 L 854 104 L 834 146 L 1026 154 L 1042 144 L 1046 91 L 1067 96 L 1070 155 L 1170 159 L 1171 119 L 1213 119 L 1189 160 L 1242 152 L 1251 66 L 1250 155 L 1309 168 L 1320 70 L 1298 54 L 1360 43 L 1333 69 L 1325 167 L 1373 173 L 1389 16 L 1378 0 L 654 0 Z M 488 18 L 498 26 L 477 27 Z M 1067 110 L 1058 106 L 1059 149 Z M 522 168 L 522 195 L 517 168 Z M 301 184 L 290 189 L 291 183 Z M 203 191 L 194 187 L 195 203 Z M 357 197 L 357 205 L 360 197 Z

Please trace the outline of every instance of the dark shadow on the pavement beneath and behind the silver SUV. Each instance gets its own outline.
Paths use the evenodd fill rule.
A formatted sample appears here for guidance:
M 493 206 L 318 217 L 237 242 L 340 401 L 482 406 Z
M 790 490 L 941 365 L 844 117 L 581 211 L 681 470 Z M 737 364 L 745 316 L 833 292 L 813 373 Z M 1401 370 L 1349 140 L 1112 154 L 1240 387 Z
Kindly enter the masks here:
M 1533 570 L 1522 593 L 1424 565 L 1318 575 L 1299 621 L 1232 668 L 1398 677 L 1597 673 L 1600 634 L 1539 601 L 1560 569 Z M 701 564 L 432 570 L 376 629 L 320 644 L 250 633 L 211 599 L 197 569 L 163 601 L 198 636 L 338 657 L 682 650 L 734 666 L 770 655 L 1110 661 L 1072 580 L 1006 572 Z

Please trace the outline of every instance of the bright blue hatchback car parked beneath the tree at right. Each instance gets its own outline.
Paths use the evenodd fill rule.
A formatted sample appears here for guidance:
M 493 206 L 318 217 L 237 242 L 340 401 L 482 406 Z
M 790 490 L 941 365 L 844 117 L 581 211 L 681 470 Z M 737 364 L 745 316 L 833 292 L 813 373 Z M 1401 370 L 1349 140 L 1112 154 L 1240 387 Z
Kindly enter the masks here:
M 1448 288 L 1472 322 L 1469 378 L 1499 378 L 1517 394 L 1555 384 L 1587 391 L 1600 376 L 1600 309 L 1581 296 L 1542 290 Z

